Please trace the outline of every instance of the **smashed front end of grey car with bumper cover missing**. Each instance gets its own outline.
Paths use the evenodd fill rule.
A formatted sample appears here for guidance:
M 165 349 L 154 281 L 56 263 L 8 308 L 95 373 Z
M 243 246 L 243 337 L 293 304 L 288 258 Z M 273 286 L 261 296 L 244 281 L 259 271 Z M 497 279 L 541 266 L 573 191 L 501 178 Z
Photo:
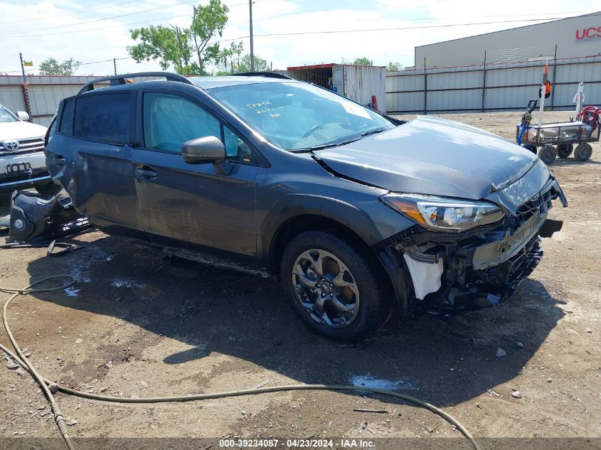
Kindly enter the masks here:
M 509 198 L 507 192 L 498 196 L 503 195 Z M 413 286 L 413 293 L 400 297 L 401 313 L 450 317 L 511 297 L 541 261 L 541 237 L 551 237 L 563 225 L 548 219 L 556 198 L 568 205 L 549 176 L 526 201 L 503 208 L 504 217 L 496 223 L 462 232 L 414 225 L 381 242 L 380 254 L 395 267 L 396 290 Z

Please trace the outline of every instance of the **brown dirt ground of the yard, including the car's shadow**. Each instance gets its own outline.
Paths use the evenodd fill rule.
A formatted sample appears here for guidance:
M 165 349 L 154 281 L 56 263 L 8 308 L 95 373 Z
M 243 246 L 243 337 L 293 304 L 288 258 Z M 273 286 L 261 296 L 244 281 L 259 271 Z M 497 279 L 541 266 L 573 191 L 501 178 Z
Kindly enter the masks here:
M 447 117 L 511 139 L 520 113 Z M 554 112 L 546 119 L 568 117 L 569 112 Z M 8 318 L 40 373 L 79 390 L 155 397 L 262 383 L 366 383 L 442 407 L 480 438 L 598 438 L 598 161 L 596 143 L 590 161 L 570 157 L 551 166 L 570 203 L 561 208 L 555 202 L 551 210 L 552 218 L 564 220 L 563 230 L 543 240 L 543 261 L 512 299 L 450 321 L 393 320 L 358 345 L 309 331 L 272 279 L 181 259 L 161 267 L 160 250 L 102 232 L 77 237 L 85 250 L 65 257 L 48 258 L 41 249 L 2 250 L 0 286 L 18 288 L 51 274 L 76 277 L 67 291 L 18 297 Z M 0 215 L 8 212 L 9 195 L 2 195 Z M 0 243 L 5 240 L 0 235 Z M 4 303 L 8 294 L 0 299 Z M 4 329 L 0 341 L 9 345 Z M 497 358 L 498 348 L 506 356 Z M 512 389 L 522 397 L 512 397 Z M 78 422 L 69 427 L 75 438 L 410 437 L 424 438 L 415 445 L 425 448 L 437 440 L 432 438 L 462 438 L 425 409 L 356 392 L 134 406 L 56 397 L 65 417 Z M 3 361 L 0 438 L 56 436 L 35 382 Z M 458 441 L 460 448 L 469 448 L 465 442 Z M 506 448 L 486 442 L 486 448 Z

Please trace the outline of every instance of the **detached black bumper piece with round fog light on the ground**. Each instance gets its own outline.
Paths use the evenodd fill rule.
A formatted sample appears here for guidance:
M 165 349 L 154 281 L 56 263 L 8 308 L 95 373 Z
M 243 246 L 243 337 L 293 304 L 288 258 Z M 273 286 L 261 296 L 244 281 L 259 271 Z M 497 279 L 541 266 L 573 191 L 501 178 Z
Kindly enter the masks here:
M 33 193 L 15 192 L 11 198 L 9 237 L 19 242 L 43 242 L 75 235 L 92 227 L 70 198 L 55 195 L 43 200 Z

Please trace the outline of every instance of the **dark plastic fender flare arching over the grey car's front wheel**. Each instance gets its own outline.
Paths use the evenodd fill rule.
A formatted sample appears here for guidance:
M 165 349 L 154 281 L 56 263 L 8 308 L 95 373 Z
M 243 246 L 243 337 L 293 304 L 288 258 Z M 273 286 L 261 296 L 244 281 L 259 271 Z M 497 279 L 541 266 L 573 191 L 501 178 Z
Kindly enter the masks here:
M 275 236 L 290 219 L 299 215 L 318 215 L 336 220 L 356 233 L 368 246 L 383 240 L 371 218 L 356 206 L 336 198 L 314 194 L 288 194 L 277 200 L 260 225 L 262 257 L 272 267 L 272 247 Z

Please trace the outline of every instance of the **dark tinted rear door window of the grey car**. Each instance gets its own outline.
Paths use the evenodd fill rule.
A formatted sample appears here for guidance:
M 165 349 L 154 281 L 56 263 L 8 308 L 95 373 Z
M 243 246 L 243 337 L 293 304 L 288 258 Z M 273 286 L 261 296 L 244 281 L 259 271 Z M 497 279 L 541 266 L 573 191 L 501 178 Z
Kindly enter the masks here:
M 130 98 L 129 92 L 78 98 L 75 105 L 75 136 L 110 144 L 127 144 Z

